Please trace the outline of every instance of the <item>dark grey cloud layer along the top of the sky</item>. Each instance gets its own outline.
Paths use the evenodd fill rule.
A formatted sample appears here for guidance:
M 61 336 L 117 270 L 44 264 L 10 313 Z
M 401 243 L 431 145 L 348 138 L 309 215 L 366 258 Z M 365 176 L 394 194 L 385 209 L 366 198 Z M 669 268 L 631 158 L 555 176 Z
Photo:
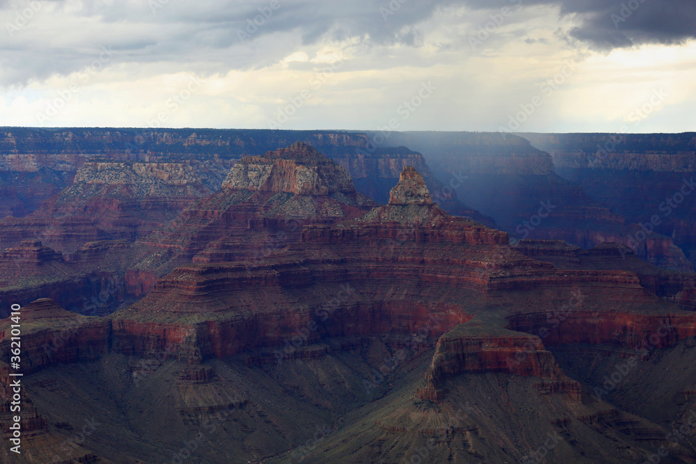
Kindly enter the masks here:
M 420 47 L 420 24 L 445 7 L 487 14 L 503 6 L 558 6 L 574 24 L 564 38 L 594 49 L 696 37 L 696 0 L 278 0 L 275 10 L 271 0 L 84 0 L 79 10 L 74 2 L 40 2 L 26 26 L 0 37 L 0 85 L 84 70 L 101 47 L 118 51 L 113 63 L 170 63 L 193 72 L 258 69 L 326 39 Z M 26 4 L 0 0 L 0 24 L 12 23 Z

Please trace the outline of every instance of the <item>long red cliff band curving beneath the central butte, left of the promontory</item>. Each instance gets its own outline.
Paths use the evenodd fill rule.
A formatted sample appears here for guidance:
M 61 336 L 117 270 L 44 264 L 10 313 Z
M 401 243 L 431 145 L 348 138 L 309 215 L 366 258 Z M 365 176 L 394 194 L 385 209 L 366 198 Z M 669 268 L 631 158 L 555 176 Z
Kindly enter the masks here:
M 409 335 L 427 326 L 431 327 L 428 336 L 438 337 L 470 319 L 452 307 L 429 307 L 408 301 L 342 305 L 331 310 L 326 323 L 317 314 L 329 312 L 321 306 L 303 311 L 279 308 L 224 321 L 190 324 L 114 319 L 113 346 L 125 354 L 168 353 L 171 358 L 200 362 L 205 358 L 227 358 L 253 349 L 285 346 L 286 340 L 295 336 L 301 337 L 303 344 L 314 344 L 337 337 Z

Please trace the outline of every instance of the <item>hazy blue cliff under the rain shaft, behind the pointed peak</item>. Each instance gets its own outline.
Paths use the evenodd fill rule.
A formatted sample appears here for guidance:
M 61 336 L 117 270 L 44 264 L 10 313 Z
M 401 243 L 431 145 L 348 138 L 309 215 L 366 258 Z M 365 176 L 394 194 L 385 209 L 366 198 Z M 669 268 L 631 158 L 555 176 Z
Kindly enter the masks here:
M 445 184 L 434 200 L 454 192 L 491 216 L 513 239 L 554 238 L 578 246 L 601 243 L 597 232 L 618 233 L 624 219 L 559 177 L 551 155 L 512 134 L 404 132 L 390 144 L 424 154 Z

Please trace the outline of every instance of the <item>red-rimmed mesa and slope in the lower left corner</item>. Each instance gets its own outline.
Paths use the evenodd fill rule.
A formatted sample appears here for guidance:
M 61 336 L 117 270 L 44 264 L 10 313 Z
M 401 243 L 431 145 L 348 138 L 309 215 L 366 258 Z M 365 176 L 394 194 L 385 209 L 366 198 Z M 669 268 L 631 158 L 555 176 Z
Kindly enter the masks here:
M 21 327 L 19 344 L 13 343 L 13 335 L 17 333 L 13 334 L 11 330 L 18 326 Z M 77 439 L 79 429 L 74 431 L 66 422 L 49 422 L 40 414 L 24 383 L 24 375 L 54 363 L 88 362 L 99 358 L 106 353 L 108 340 L 109 321 L 65 311 L 47 298 L 20 308 L 14 321 L 0 320 L 0 418 L 3 424 L 0 435 L 3 442 L 12 443 L 0 451 L 3 462 L 111 463 L 82 446 L 84 440 Z M 19 370 L 10 369 L 8 364 L 17 346 L 21 346 L 21 355 L 17 356 Z M 18 372 L 23 376 L 10 376 Z M 10 430 L 10 424 L 15 424 L 15 416 L 20 417 L 20 439 L 12 442 L 11 438 L 17 438 Z M 94 421 L 86 418 L 80 424 L 82 435 L 93 433 L 96 426 Z M 10 447 L 16 445 L 20 445 L 17 448 L 19 453 L 10 451 Z

